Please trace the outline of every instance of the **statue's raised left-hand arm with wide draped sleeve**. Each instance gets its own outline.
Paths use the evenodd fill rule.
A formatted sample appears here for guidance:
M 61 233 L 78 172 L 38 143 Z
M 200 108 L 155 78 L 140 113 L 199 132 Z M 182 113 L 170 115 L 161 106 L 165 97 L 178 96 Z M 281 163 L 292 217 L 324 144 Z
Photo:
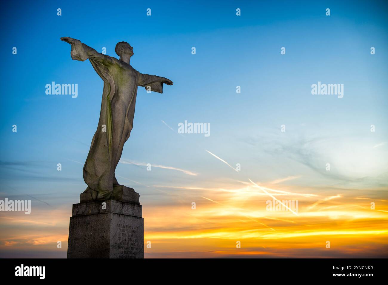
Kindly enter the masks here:
M 100 54 L 94 48 L 91 48 L 84 43 L 81 43 L 80 40 L 76 40 L 69 37 L 61 38 L 61 41 L 66 41 L 66 43 L 71 44 L 71 58 L 74 60 L 85 61 L 87 59 L 95 60 L 109 66 L 113 64 L 113 60 L 109 55 Z

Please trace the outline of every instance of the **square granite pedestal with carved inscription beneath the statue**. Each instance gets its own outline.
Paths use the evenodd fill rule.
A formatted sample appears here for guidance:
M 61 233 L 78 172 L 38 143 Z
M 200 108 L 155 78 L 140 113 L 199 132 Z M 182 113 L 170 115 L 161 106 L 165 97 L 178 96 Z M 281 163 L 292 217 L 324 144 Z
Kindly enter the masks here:
M 144 258 L 142 206 L 116 200 L 73 204 L 68 258 Z

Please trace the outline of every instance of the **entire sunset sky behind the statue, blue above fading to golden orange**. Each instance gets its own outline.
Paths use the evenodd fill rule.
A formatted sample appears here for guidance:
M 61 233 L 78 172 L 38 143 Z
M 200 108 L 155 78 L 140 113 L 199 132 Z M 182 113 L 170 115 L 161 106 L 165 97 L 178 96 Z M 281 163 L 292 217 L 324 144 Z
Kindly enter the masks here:
M 146 258 L 387 257 L 387 6 L 3 3 L 0 200 L 32 209 L 0 211 L 0 257 L 66 258 L 87 187 L 103 81 L 64 36 L 113 57 L 127 41 L 133 68 L 174 82 L 163 94 L 139 87 L 116 168 L 140 193 Z M 77 84 L 78 97 L 47 95 L 52 81 Z M 318 82 L 343 84 L 343 97 L 312 95 Z M 210 136 L 178 133 L 184 121 L 210 124 Z M 298 211 L 267 211 L 273 199 Z

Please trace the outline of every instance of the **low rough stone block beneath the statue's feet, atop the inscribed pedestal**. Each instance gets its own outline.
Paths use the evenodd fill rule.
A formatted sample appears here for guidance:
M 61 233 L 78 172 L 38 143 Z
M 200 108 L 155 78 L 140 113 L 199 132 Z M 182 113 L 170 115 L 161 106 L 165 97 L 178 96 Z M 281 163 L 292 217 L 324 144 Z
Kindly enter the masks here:
M 139 197 L 133 188 L 124 185 L 113 185 L 113 190 L 108 191 L 94 191 L 88 187 L 81 193 L 80 203 L 116 200 L 140 205 Z

